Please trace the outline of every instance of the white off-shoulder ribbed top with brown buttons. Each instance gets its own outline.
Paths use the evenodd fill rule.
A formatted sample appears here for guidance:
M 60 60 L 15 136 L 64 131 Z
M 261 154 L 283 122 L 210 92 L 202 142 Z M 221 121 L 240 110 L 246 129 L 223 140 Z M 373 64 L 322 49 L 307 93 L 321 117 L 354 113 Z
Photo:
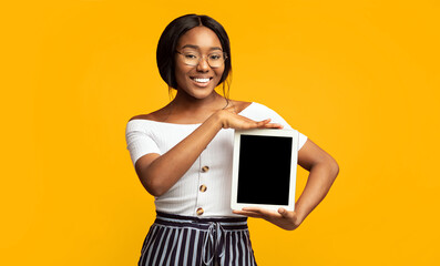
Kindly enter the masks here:
M 291 129 L 275 111 L 259 103 L 253 102 L 239 115 L 255 121 L 272 119 L 272 123 Z M 125 139 L 133 165 L 145 154 L 166 153 L 199 125 L 142 119 L 129 121 Z M 306 141 L 307 136 L 299 133 L 298 151 Z M 166 193 L 155 197 L 156 211 L 186 216 L 238 216 L 231 209 L 233 147 L 234 130 L 222 129 L 191 168 Z

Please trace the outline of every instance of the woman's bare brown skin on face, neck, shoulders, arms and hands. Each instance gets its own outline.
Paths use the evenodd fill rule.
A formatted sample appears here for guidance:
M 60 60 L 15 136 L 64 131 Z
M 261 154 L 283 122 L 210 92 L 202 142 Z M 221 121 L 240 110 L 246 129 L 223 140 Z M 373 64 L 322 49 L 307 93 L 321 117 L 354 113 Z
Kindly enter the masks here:
M 177 51 L 194 49 L 207 55 L 222 49 L 217 35 L 205 27 L 196 27 L 181 37 Z M 176 124 L 201 125 L 182 142 L 163 155 L 150 153 L 137 160 L 135 170 L 145 190 L 161 196 L 168 191 L 193 165 L 203 150 L 222 129 L 283 129 L 270 120 L 253 121 L 238 113 L 250 102 L 226 101 L 215 92 L 224 66 L 211 68 L 201 60 L 195 66 L 186 65 L 181 55 L 176 62 L 176 98 L 166 106 L 150 114 L 133 119 L 145 119 Z M 196 82 L 195 79 L 208 79 Z M 295 204 L 295 211 L 279 208 L 278 212 L 258 207 L 233 211 L 248 217 L 264 218 L 284 229 L 297 228 L 307 215 L 323 201 L 331 187 L 339 167 L 336 161 L 310 139 L 298 152 L 298 164 L 309 171 L 306 187 Z

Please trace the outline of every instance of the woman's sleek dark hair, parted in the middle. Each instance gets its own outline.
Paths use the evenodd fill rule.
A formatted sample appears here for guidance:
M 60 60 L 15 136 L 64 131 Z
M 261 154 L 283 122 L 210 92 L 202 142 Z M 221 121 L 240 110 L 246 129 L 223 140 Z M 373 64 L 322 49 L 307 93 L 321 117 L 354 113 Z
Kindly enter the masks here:
M 225 70 L 218 84 L 224 82 L 226 78 L 232 73 L 229 38 L 227 37 L 227 33 L 223 25 L 207 16 L 185 14 L 173 20 L 165 28 L 157 43 L 157 68 L 162 79 L 166 82 L 166 84 L 168 84 L 168 88 L 177 88 L 177 81 L 175 78 L 174 54 L 176 52 L 178 39 L 183 34 L 185 34 L 185 32 L 198 25 L 204 25 L 214 31 L 215 34 L 218 37 L 223 51 L 226 52 L 227 58 L 225 60 Z M 218 84 L 216 84 L 216 86 Z M 226 94 L 225 84 L 223 84 L 223 93 Z

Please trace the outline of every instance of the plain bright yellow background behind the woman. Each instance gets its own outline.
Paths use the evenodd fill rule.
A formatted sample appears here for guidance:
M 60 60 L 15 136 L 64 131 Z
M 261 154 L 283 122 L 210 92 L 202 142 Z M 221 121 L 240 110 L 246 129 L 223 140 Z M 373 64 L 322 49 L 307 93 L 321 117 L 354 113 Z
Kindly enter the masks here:
M 232 99 L 340 166 L 297 231 L 249 221 L 259 265 L 437 264 L 440 4 L 415 2 L 2 2 L 0 265 L 136 265 L 154 204 L 125 125 L 170 101 L 156 43 L 192 12 L 229 34 Z

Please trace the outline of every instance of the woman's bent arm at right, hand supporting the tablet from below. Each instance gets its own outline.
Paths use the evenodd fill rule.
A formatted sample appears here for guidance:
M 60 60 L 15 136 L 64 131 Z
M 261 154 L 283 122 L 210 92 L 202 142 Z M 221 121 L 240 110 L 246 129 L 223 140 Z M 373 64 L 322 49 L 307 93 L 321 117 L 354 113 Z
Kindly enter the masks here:
M 339 173 L 336 161 L 309 139 L 298 152 L 298 164 L 309 171 L 309 175 L 306 187 L 295 204 L 294 212 L 279 208 L 276 213 L 258 207 L 246 207 L 243 211 L 234 211 L 234 213 L 264 218 L 288 231 L 297 228 L 327 195 Z

